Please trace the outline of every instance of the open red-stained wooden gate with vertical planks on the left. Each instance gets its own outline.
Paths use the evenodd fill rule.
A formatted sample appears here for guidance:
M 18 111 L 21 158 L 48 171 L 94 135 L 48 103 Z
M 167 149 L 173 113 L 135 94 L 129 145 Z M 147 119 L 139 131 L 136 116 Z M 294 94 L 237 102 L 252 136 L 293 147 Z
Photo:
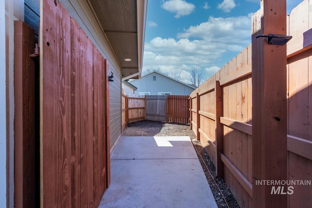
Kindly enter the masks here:
M 40 3 L 41 207 L 97 207 L 110 171 L 107 62 L 58 1 Z

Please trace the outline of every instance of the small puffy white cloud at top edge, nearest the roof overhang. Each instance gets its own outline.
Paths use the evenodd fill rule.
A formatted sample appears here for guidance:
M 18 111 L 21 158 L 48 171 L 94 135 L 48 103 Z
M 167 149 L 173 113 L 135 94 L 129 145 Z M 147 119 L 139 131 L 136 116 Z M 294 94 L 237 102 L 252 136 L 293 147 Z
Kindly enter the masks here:
M 161 7 L 169 12 L 176 13 L 175 18 L 191 14 L 195 5 L 188 3 L 185 0 L 168 0 L 165 1 Z

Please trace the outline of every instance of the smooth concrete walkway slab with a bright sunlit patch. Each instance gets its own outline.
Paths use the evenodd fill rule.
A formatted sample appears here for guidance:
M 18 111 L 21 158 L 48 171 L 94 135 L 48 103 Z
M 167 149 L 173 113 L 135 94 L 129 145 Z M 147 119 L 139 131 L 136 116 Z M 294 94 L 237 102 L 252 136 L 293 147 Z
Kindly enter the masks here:
M 121 137 L 99 208 L 216 208 L 188 136 Z

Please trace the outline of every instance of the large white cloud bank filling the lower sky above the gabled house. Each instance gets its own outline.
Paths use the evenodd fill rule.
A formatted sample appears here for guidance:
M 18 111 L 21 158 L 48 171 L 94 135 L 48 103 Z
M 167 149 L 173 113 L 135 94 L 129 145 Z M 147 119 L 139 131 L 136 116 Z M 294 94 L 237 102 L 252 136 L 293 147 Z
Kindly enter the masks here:
M 168 74 L 179 73 L 181 81 L 188 82 L 192 68 L 200 68 L 209 78 L 223 67 L 218 63 L 230 61 L 250 43 L 250 17 L 210 17 L 177 34 L 177 39 L 156 37 L 145 42 L 143 70 L 159 67 Z

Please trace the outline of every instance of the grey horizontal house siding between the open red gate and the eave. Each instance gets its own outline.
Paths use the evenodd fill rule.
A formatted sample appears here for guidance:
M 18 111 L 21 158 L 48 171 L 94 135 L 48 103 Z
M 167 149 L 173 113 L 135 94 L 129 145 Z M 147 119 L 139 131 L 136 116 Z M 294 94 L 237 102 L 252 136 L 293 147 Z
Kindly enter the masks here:
M 108 60 L 109 72 L 114 73 L 114 81 L 109 83 L 110 147 L 112 148 L 121 134 L 121 68 L 109 42 L 102 33 L 93 14 L 94 11 L 90 9 L 87 2 L 78 0 L 60 0 L 60 2 L 96 45 L 102 56 Z

